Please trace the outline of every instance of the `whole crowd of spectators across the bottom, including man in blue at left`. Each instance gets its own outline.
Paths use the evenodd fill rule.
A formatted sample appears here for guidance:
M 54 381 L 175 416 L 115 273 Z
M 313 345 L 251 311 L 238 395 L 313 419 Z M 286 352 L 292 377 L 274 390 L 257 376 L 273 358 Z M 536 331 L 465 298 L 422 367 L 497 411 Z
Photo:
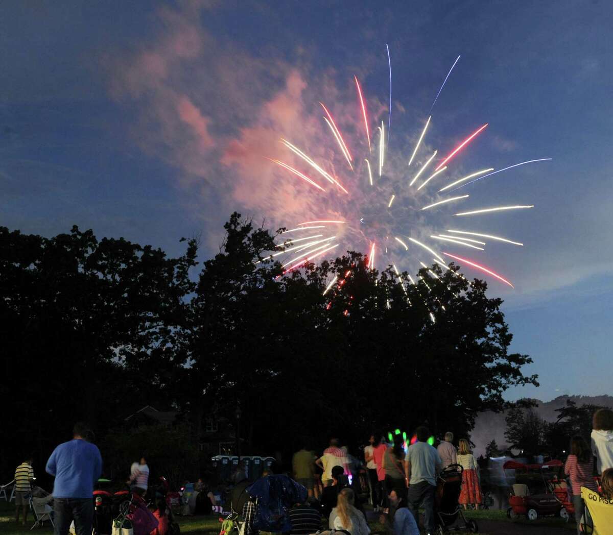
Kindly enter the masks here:
M 596 411 L 592 427 L 590 444 L 581 436 L 571 439 L 564 466 L 573 494 L 577 533 L 580 533 L 579 525 L 585 515 L 581 487 L 600 491 L 601 498 L 611 501 L 613 506 L 613 411 Z M 426 533 L 434 533 L 437 478 L 452 465 L 462 466 L 459 503 L 465 509 L 479 509 L 482 503 L 479 463 L 470 449 L 470 442 L 460 439 L 456 447 L 454 435 L 448 431 L 443 441 L 433 447 L 428 444 L 430 431 L 424 426 L 417 428 L 415 437 L 413 444 L 406 447 L 401 441 L 388 444 L 378 433 L 373 433 L 364 447 L 363 462 L 349 455 L 348 449 L 340 447 L 335 438 L 319 457 L 307 445 L 296 452 L 291 476 L 306 489 L 306 499 L 297 501 L 289 510 L 291 535 L 316 533 L 322 526 L 342 529 L 351 535 L 368 535 L 370 528 L 358 491 L 364 490 L 364 484 L 357 484 L 361 467 L 365 467 L 367 474 L 370 503 L 389 535 L 419 534 L 419 509 L 424 509 Z M 90 535 L 94 512 L 92 496 L 94 485 L 102 474 L 102 458 L 85 425 L 77 423 L 72 440 L 53 450 L 45 471 L 55 477 L 56 535 L 67 535 L 71 523 L 77 535 Z M 268 474 L 270 472 L 264 472 L 263 476 Z M 134 495 L 147 495 L 149 475 L 147 458 L 143 455 L 132 464 L 126 481 Z M 20 522 L 20 515 L 23 515 L 22 522 L 26 523 L 29 495 L 35 480 L 32 458 L 26 458 L 15 470 L 16 522 Z M 198 490 L 214 499 L 208 489 L 204 489 L 202 480 L 197 485 Z M 154 494 L 150 492 L 150 497 Z M 154 498 L 150 501 L 150 512 L 157 525 L 151 535 L 166 535 L 170 511 L 164 499 Z M 251 514 L 249 507 L 252 506 L 246 502 L 243 514 Z M 246 535 L 251 535 L 249 530 Z

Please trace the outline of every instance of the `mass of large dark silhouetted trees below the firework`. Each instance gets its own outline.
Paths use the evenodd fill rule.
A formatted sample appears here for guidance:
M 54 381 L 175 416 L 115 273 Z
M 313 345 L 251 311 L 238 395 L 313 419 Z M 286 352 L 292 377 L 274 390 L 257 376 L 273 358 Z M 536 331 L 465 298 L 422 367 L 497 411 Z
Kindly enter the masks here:
M 247 451 L 289 452 L 422 422 L 468 434 L 508 387 L 537 384 L 521 371 L 530 357 L 507 351 L 501 300 L 454 265 L 413 285 L 348 252 L 283 276 L 268 260 L 280 231 L 237 213 L 225 228 L 200 268 L 196 240 L 170 258 L 77 227 L 0 227 L 0 394 L 14 436 L 2 472 L 26 449 L 44 460 L 76 419 L 102 441 L 136 402 L 183 411 L 194 441 L 206 417 L 240 404 Z

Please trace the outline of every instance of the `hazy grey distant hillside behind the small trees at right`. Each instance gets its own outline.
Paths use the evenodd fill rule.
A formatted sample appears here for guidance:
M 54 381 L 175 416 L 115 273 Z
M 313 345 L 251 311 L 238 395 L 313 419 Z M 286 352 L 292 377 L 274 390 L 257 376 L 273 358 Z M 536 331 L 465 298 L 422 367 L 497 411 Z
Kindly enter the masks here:
M 533 400 L 538 403 L 538 407 L 535 410 L 544 420 L 553 422 L 557 418 L 555 409 L 560 409 L 566 405 L 566 400 L 574 401 L 577 406 L 584 404 L 600 405 L 603 407 L 613 408 L 612 396 L 560 396 L 555 400 L 543 402 L 541 400 Z M 485 453 L 485 446 L 494 439 L 498 444 L 498 447 L 504 447 L 506 445 L 506 439 L 504 439 L 504 429 L 506 423 L 504 423 L 505 412 L 481 412 L 474 425 L 474 430 L 471 433 L 471 441 L 474 442 L 474 453 L 479 456 Z

